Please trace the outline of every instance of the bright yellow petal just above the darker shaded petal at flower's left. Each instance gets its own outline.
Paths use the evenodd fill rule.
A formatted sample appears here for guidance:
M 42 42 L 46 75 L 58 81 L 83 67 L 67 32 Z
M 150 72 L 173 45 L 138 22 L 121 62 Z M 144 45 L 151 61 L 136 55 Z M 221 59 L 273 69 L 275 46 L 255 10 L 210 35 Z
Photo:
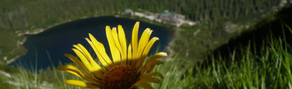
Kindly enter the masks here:
M 89 61 L 86 59 L 86 57 L 77 49 L 72 49 L 76 54 L 77 56 L 80 58 L 80 60 L 83 62 L 83 64 L 86 66 L 86 68 L 92 73 L 94 74 L 95 76 L 97 77 L 101 77 L 102 76 L 102 73 L 100 70 L 96 70 L 96 69 L 93 69 L 93 67 L 91 66 L 91 64 L 89 63 Z

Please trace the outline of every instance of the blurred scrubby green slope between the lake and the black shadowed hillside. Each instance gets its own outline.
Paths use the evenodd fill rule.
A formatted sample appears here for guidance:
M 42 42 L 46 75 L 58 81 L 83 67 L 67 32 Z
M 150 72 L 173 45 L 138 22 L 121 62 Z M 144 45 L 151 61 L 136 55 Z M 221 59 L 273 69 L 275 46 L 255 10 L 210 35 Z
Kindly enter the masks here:
M 291 5 L 287 6 L 291 8 Z M 240 36 L 243 32 L 256 30 L 275 20 L 289 19 L 291 14 L 281 12 L 282 9 L 273 14 L 265 14 L 265 17 L 260 16 L 263 14 L 249 14 L 233 21 L 223 21 L 217 25 L 205 21 L 193 27 L 177 28 L 176 37 L 172 41 L 173 45 L 170 46 L 175 50 L 174 54 L 179 53 L 179 57 L 201 61 L 209 50 L 215 50 L 221 45 L 227 44 L 230 39 Z

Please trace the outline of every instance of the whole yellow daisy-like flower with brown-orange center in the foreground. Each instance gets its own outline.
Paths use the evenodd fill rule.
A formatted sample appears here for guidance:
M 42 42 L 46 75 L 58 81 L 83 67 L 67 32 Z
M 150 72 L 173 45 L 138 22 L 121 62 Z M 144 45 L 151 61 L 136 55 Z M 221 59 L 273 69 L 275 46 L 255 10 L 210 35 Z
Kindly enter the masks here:
M 105 27 L 112 60 L 106 54 L 102 43 L 98 42 L 91 34 L 89 34 L 89 39 L 85 38 L 103 66 L 98 65 L 81 44 L 73 45 L 75 48 L 72 50 L 81 61 L 71 54 L 65 54 L 65 56 L 76 63 L 85 74 L 72 65 L 58 66 L 57 69 L 74 74 L 87 82 L 66 80 L 64 83 L 84 88 L 125 89 L 139 86 L 153 89 L 149 82 L 160 83 L 161 81 L 157 77 L 163 79 L 163 75 L 151 71 L 154 66 L 163 64 L 163 61 L 156 59 L 167 56 L 167 54 L 157 53 L 143 65 L 153 43 L 159 39 L 153 37 L 149 40 L 152 30 L 147 28 L 138 43 L 138 28 L 139 22 L 136 22 L 131 44 L 127 47 L 125 33 L 121 25 L 118 26 L 118 31 L 117 28 Z

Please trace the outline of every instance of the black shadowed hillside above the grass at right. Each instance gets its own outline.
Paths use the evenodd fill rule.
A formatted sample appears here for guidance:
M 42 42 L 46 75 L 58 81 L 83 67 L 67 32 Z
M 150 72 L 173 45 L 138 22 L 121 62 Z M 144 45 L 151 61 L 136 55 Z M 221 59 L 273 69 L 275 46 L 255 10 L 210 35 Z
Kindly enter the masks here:
M 243 32 L 240 36 L 229 40 L 227 44 L 221 45 L 213 50 L 215 56 L 229 57 L 234 50 L 240 50 L 251 45 L 251 52 L 257 53 L 263 45 L 268 45 L 271 36 L 275 38 L 285 39 L 287 44 L 292 43 L 292 35 L 290 30 L 286 27 L 292 27 L 292 5 L 283 8 L 281 11 L 274 14 L 276 19 L 269 21 L 269 18 L 257 23 L 254 28 L 249 28 L 247 32 Z M 282 29 L 283 28 L 283 29 Z M 283 33 L 284 32 L 284 33 Z M 210 58 L 208 58 L 210 59 Z

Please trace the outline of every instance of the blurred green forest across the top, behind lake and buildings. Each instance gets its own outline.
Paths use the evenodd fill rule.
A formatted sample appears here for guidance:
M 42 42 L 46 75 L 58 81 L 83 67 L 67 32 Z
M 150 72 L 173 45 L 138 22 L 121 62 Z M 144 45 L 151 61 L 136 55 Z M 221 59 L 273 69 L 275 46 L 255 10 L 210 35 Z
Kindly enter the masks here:
M 190 20 L 233 20 L 250 13 L 263 12 L 278 5 L 270 0 L 87 0 L 87 1 L 25 1 L 10 0 L 1 3 L 1 28 L 21 30 L 45 28 L 55 23 L 76 20 L 84 16 L 114 15 L 124 9 L 138 8 L 151 12 L 169 10 L 186 15 Z M 37 8 L 36 8 L 37 7 Z

